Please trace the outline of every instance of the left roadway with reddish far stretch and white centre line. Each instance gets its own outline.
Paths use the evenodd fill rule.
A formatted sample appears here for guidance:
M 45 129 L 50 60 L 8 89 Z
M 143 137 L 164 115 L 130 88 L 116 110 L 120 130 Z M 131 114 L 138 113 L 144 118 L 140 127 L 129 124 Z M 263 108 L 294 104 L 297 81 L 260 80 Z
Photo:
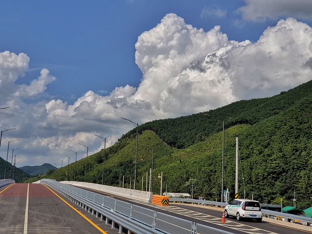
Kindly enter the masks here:
M 102 232 L 42 184 L 0 188 L 0 234 L 68 233 Z

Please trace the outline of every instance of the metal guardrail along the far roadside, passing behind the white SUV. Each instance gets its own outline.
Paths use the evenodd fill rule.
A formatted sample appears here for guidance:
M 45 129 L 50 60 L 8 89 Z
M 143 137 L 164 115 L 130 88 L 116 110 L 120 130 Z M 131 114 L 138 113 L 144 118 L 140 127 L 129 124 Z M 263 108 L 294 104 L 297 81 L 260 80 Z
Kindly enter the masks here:
M 225 207 L 228 203 L 224 202 L 215 202 L 215 201 L 206 201 L 206 200 L 197 200 L 197 199 L 187 199 L 187 198 L 170 198 L 170 201 L 181 201 L 181 202 L 192 202 L 192 203 L 200 203 L 200 204 L 207 204 L 207 205 L 214 205 L 214 206 L 220 206 Z M 262 214 L 268 215 L 268 217 L 275 216 L 275 217 L 283 217 L 283 218 L 289 218 L 292 220 L 300 220 L 303 222 L 312 223 L 312 218 L 301 216 L 301 215 L 292 215 L 288 213 L 282 213 L 277 211 L 270 211 L 266 209 L 261 209 Z

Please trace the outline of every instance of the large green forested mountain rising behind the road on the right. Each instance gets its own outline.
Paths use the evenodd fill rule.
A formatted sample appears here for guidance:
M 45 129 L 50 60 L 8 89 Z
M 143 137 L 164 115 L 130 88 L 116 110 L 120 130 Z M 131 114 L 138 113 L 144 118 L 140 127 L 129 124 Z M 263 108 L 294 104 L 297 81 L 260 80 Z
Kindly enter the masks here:
M 206 114 L 206 115 L 204 115 Z M 209 116 L 207 116 L 209 115 Z M 216 119 L 217 118 L 217 119 Z M 155 120 L 139 126 L 137 189 L 145 190 L 153 161 L 153 193 L 190 193 L 214 199 L 221 193 L 222 121 L 225 122 L 224 188 L 234 197 L 235 138 L 239 139 L 239 194 L 264 203 L 311 206 L 312 199 L 312 81 L 271 98 L 242 100 L 186 117 Z M 136 129 L 105 152 L 106 185 L 133 187 Z M 84 181 L 85 158 L 77 162 L 76 180 Z M 88 157 L 87 182 L 101 183 L 103 150 Z M 68 174 L 69 172 L 69 174 Z M 72 180 L 69 168 L 37 177 Z M 243 179 L 244 178 L 244 179 Z M 220 198 L 219 198 L 220 200 Z

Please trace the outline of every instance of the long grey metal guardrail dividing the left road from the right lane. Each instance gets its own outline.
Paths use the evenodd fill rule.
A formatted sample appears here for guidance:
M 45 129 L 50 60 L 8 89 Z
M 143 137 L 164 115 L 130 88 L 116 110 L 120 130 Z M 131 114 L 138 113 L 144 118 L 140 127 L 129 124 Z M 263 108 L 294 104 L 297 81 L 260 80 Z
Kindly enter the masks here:
M 112 220 L 112 228 L 119 224 L 139 234 L 233 234 L 209 226 L 198 224 L 172 215 L 156 212 L 112 197 L 89 192 L 51 179 L 42 179 L 41 183 L 53 188 L 61 195 L 85 208 L 92 214 Z

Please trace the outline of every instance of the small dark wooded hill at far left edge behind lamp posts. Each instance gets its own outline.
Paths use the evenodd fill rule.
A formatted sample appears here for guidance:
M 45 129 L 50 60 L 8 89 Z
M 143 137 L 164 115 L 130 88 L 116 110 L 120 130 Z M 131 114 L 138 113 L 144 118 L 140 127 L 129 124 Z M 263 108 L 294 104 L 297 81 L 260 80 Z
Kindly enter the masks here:
M 6 161 L 0 157 L 0 179 L 4 179 L 5 174 L 6 179 L 14 179 L 16 182 L 20 183 L 32 177 L 23 170 L 12 166 L 9 162 L 7 162 L 5 170 L 5 163 Z

